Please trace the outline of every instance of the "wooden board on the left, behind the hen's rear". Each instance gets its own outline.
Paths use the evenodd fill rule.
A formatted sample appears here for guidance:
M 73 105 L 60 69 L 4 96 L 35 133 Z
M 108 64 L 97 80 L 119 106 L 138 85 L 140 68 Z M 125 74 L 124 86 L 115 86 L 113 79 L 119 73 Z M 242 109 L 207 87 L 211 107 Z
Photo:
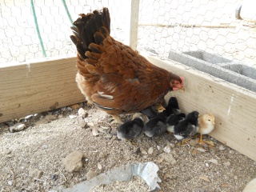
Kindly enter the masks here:
M 0 65 L 0 122 L 83 102 L 76 58 Z

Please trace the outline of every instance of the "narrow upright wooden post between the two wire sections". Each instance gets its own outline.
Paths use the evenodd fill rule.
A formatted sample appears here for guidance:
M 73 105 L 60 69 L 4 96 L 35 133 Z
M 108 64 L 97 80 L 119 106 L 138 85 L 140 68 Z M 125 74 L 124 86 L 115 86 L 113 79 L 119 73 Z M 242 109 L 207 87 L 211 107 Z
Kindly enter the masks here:
M 131 0 L 130 10 L 130 47 L 137 50 L 138 42 L 138 12 L 139 0 Z

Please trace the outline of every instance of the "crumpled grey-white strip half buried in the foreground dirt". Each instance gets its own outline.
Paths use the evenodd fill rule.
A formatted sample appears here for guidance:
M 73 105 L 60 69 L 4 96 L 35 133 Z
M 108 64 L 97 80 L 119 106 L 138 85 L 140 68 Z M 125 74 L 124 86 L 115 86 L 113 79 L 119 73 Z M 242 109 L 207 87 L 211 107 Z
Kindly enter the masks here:
M 112 170 L 91 178 L 88 181 L 78 183 L 70 188 L 62 190 L 63 192 L 80 192 L 90 191 L 94 186 L 101 184 L 110 184 L 112 182 L 130 181 L 134 176 L 141 177 L 145 180 L 146 184 L 150 186 L 151 191 L 160 190 L 158 182 L 161 179 L 158 177 L 158 166 L 154 162 L 144 163 L 128 163 L 125 166 L 118 166 Z

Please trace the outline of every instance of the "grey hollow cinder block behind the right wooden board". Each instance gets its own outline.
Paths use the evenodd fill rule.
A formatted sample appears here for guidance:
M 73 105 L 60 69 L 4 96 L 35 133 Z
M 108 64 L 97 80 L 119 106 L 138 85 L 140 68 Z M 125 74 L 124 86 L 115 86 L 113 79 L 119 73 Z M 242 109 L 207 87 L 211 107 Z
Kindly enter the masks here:
M 256 92 L 256 69 L 205 51 L 170 51 L 169 59 Z

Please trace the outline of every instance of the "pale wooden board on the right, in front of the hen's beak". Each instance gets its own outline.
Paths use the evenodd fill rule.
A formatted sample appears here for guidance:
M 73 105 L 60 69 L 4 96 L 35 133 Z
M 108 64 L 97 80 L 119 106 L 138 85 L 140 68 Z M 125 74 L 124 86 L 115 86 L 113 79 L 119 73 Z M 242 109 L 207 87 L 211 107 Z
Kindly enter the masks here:
M 184 77 L 185 92 L 173 91 L 182 111 L 212 113 L 216 126 L 210 134 L 218 141 L 256 161 L 256 94 L 209 74 L 174 62 L 147 57 L 150 62 Z

